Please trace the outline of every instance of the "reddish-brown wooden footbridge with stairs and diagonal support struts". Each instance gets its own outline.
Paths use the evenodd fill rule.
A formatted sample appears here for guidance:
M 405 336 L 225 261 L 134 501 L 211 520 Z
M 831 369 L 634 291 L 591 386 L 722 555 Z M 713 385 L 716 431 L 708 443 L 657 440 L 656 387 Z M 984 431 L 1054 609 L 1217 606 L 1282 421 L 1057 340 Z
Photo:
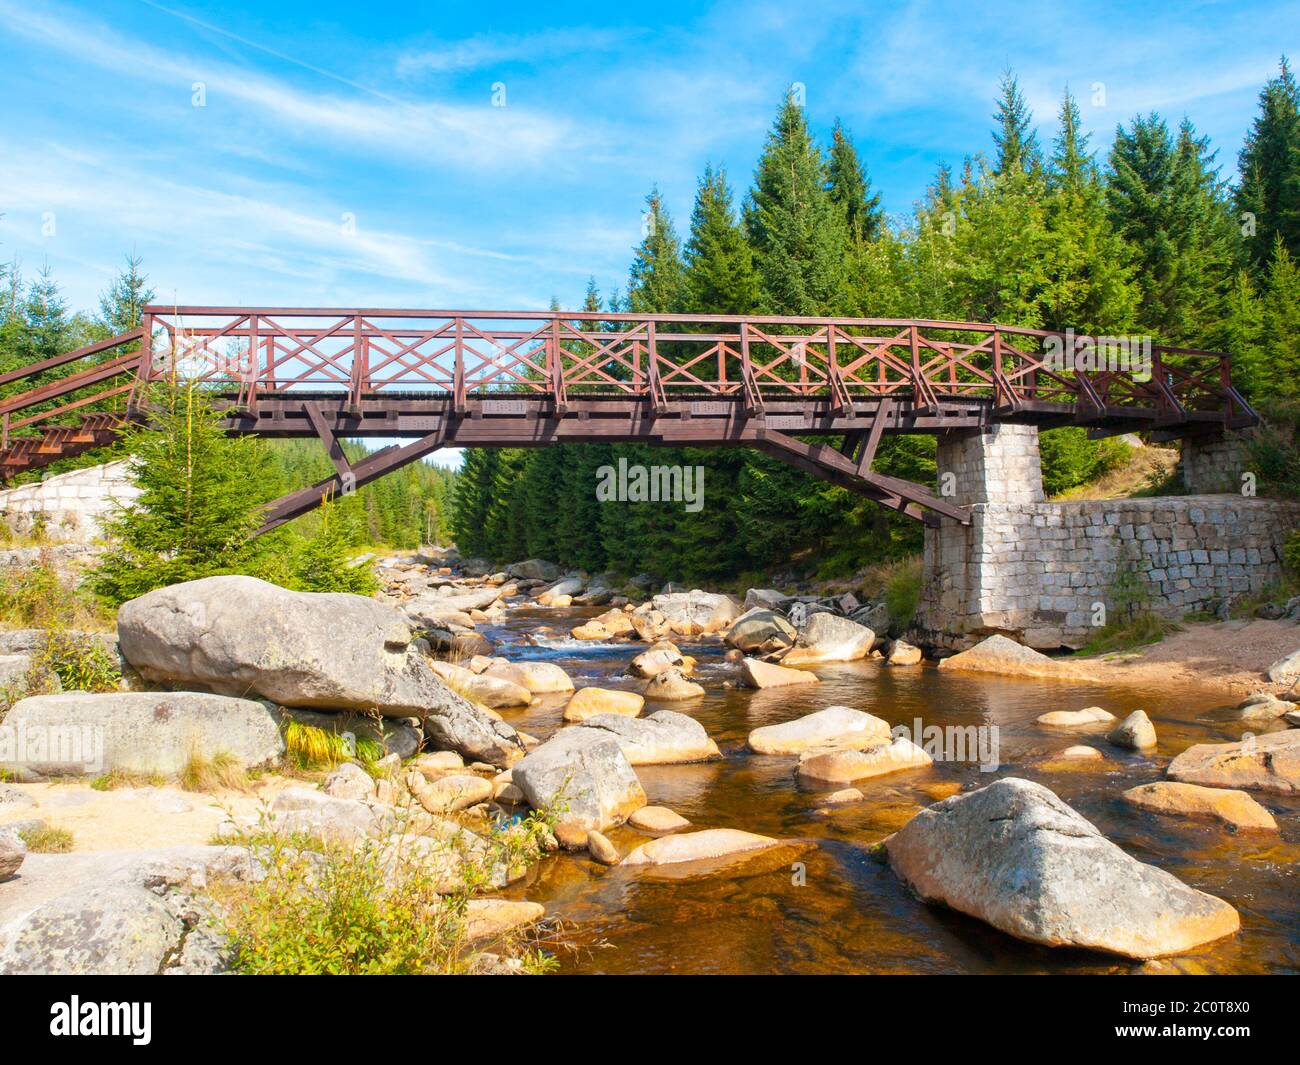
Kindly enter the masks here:
M 871 469 L 885 433 L 1256 424 L 1227 355 L 1145 343 L 1136 359 L 1126 342 L 1108 368 L 1115 350 L 982 322 L 151 306 L 138 329 L 0 375 L 0 479 L 112 442 L 178 378 L 211 389 L 231 433 L 328 449 L 334 476 L 272 503 L 264 531 L 439 447 L 625 441 L 754 447 L 927 524 L 967 523 Z M 364 437 L 408 442 L 348 463 L 338 441 Z

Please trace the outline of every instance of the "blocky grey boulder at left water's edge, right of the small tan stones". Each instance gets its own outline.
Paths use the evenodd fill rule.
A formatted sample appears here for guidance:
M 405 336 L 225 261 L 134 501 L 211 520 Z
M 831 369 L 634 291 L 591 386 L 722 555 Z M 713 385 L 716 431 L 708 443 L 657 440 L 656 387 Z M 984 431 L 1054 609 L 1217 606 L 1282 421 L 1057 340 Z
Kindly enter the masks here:
M 628 720 L 619 718 L 619 720 Z M 604 730 L 562 728 L 511 771 L 533 809 L 566 806 L 560 817 L 588 831 L 621 824 L 646 793 L 618 739 Z

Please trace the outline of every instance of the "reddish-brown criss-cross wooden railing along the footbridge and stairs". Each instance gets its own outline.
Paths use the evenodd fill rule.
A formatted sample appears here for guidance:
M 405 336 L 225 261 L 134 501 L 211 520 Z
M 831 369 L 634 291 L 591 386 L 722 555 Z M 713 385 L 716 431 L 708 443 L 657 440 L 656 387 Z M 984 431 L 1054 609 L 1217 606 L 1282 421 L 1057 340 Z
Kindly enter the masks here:
M 26 391 L 20 381 L 64 375 Z M 0 377 L 6 432 L 44 428 L 105 402 L 127 403 L 177 375 L 229 394 L 346 391 L 472 397 L 714 397 L 760 412 L 872 397 L 919 407 L 988 401 L 998 411 L 1141 410 L 1176 423 L 1251 411 L 1228 356 L 1147 338 L 1080 338 L 1020 326 L 894 319 L 630 315 L 395 308 L 146 308 L 138 330 Z M 5 394 L 4 389 L 9 389 Z M 12 420 L 10 420 L 12 419 Z

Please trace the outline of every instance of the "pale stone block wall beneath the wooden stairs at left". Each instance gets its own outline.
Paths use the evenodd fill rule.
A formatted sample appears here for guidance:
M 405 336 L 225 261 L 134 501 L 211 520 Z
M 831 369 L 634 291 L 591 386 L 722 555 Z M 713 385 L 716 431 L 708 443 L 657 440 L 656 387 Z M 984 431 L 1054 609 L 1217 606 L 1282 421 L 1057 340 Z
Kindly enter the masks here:
M 129 505 L 140 494 L 126 466 L 125 460 L 91 466 L 0 492 L 0 520 L 20 534 L 43 523 L 49 540 L 90 544 L 116 505 Z

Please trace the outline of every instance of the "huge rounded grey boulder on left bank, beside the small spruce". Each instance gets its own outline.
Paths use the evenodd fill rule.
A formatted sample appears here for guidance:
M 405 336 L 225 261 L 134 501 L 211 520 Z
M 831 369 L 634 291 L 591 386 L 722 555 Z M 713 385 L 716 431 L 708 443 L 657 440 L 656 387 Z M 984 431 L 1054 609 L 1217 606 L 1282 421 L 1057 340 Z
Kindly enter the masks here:
M 117 638 L 146 680 L 285 706 L 411 718 L 450 694 L 410 653 L 399 611 L 256 577 L 205 577 L 130 599 L 117 611 Z

